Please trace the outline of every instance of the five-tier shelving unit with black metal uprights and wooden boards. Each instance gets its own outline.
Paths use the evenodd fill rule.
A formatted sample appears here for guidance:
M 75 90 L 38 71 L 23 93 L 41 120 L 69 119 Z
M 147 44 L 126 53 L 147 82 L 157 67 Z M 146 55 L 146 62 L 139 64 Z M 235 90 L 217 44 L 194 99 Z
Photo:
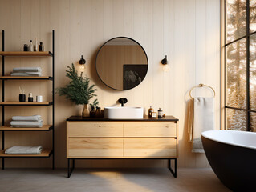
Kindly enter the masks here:
M 5 168 L 5 158 L 50 158 L 52 156 L 52 169 L 55 169 L 55 31 L 52 30 L 52 53 L 50 51 L 42 52 L 25 52 L 25 51 L 5 51 L 5 31 L 2 30 L 2 150 L 0 150 L 0 158 L 2 158 L 2 170 Z M 52 76 L 47 77 L 17 77 L 5 75 L 5 58 L 6 57 L 51 57 L 52 58 Z M 52 81 L 52 101 L 51 102 L 6 102 L 5 98 L 5 81 L 9 80 L 45 80 Z M 40 128 L 14 128 L 5 125 L 5 106 L 52 106 L 52 124 L 43 125 Z M 5 132 L 6 131 L 51 131 L 52 148 L 43 149 L 41 154 L 5 154 Z

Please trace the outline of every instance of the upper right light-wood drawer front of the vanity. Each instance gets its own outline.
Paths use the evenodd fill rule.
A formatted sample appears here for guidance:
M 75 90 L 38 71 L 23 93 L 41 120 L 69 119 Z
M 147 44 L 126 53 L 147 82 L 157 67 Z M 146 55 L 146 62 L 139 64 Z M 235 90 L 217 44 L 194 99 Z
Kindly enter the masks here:
M 124 137 L 177 137 L 177 123 L 126 122 Z

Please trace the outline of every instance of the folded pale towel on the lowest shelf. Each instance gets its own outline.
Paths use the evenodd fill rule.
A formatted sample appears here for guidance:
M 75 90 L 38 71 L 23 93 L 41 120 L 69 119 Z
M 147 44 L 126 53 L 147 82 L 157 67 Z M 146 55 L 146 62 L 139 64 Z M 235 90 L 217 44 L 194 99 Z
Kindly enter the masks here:
M 41 154 L 42 146 L 12 146 L 5 154 Z

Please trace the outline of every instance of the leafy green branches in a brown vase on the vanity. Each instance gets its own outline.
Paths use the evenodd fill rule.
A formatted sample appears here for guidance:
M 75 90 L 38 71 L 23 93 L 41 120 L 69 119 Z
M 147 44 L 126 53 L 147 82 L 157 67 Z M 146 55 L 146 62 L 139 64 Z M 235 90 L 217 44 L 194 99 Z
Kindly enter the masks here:
M 70 82 L 64 86 L 57 88 L 57 93 L 66 96 L 67 100 L 75 102 L 75 105 L 83 105 L 83 117 L 89 117 L 88 103 L 91 98 L 97 96 L 95 93 L 95 84 L 90 84 L 90 78 L 83 77 L 83 72 L 79 75 L 75 66 L 67 66 L 66 77 L 70 78 Z M 97 99 L 95 99 L 97 101 Z

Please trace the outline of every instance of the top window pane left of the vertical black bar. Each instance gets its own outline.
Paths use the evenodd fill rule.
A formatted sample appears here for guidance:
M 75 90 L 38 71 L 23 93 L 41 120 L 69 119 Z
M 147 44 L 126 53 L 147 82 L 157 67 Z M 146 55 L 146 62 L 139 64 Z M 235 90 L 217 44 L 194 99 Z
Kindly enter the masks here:
M 226 43 L 246 35 L 246 0 L 226 0 Z

